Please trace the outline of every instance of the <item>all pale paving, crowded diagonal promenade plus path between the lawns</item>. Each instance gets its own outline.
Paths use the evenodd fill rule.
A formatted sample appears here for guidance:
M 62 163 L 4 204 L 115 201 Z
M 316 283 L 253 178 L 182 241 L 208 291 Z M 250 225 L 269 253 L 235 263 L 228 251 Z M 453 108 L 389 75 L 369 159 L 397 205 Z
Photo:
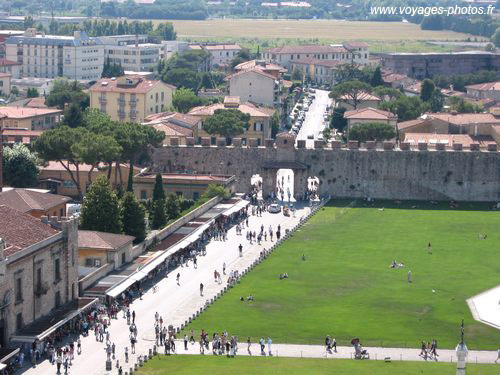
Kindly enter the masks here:
M 267 230 L 272 225 L 274 232 L 278 224 L 281 224 L 282 232 L 286 229 L 295 227 L 300 218 L 310 212 L 309 208 L 300 208 L 297 210 L 296 217 L 284 217 L 282 214 L 264 213 L 262 217 L 251 216 L 249 219 L 250 230 L 259 231 L 260 226 L 264 225 Z M 196 313 L 205 305 L 207 300 L 214 298 L 221 293 L 224 284 L 214 282 L 213 272 L 215 269 L 222 271 L 222 264 L 226 263 L 226 273 L 231 270 L 240 272 L 248 269 L 255 262 L 262 249 L 269 249 L 273 243 L 268 241 L 261 246 L 254 243 L 250 245 L 243 236 L 236 235 L 235 228 L 228 232 L 228 240 L 211 241 L 207 245 L 207 255 L 198 258 L 198 268 L 194 269 L 192 263 L 189 267 L 182 267 L 172 271 L 168 278 L 158 282 L 158 291 L 156 293 L 150 289 L 142 298 L 135 300 L 131 305 L 131 310 L 136 312 L 136 325 L 138 328 L 138 342 L 136 344 L 136 354 L 130 354 L 129 363 L 125 363 L 124 348 L 129 347 L 129 330 L 126 319 L 120 313 L 117 320 L 112 320 L 109 327 L 111 341 L 116 345 L 116 359 L 122 365 L 124 372 L 129 371 L 130 367 L 138 361 L 139 355 L 146 355 L 149 349 L 154 345 L 154 314 L 156 311 L 163 317 L 164 323 L 179 327 L 181 324 Z M 238 245 L 243 245 L 243 257 L 238 256 Z M 181 274 L 180 286 L 176 284 L 175 275 Z M 222 272 L 221 272 L 222 273 Z M 224 278 L 224 280 L 227 279 Z M 204 296 L 200 296 L 199 285 L 202 282 L 205 285 Z M 198 339 L 198 338 L 197 338 Z M 184 351 L 182 342 L 178 342 L 177 351 L 179 354 L 199 354 L 199 345 L 189 345 L 188 350 Z M 249 355 L 246 343 L 239 344 L 239 355 Z M 383 360 L 385 357 L 391 357 L 391 360 L 423 361 L 418 354 L 419 349 L 400 349 L 400 348 L 365 348 L 370 353 L 370 359 Z M 163 348 L 160 348 L 163 352 Z M 266 345 L 267 351 L 267 345 Z M 288 345 L 273 344 L 273 355 L 279 357 L 308 357 L 308 358 L 351 358 L 353 350 L 351 347 L 338 347 L 338 352 L 326 354 L 324 346 L 321 345 Z M 251 354 L 259 356 L 258 344 L 253 344 Z M 439 361 L 455 361 L 455 353 L 452 350 L 440 350 Z M 211 351 L 207 355 L 211 355 Z M 496 352 L 476 352 L 469 353 L 469 361 L 477 363 L 493 363 L 496 358 Z M 113 370 L 105 371 L 105 344 L 97 342 L 93 332 L 88 337 L 82 338 L 82 354 L 76 355 L 73 365 L 70 367 L 71 375 L 103 375 L 117 374 L 118 370 L 113 363 Z M 56 367 L 49 361 L 44 361 L 35 368 L 27 368 L 26 375 L 48 375 L 55 374 Z

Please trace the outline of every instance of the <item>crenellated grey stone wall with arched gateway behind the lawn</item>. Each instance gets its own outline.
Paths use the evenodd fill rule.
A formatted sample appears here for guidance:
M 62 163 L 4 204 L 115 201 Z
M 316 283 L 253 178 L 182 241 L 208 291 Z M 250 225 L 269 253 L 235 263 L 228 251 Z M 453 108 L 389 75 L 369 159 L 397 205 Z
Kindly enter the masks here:
M 233 139 L 231 146 L 209 138 L 195 145 L 193 138 L 179 146 L 177 138 L 170 146 L 156 149 L 152 168 L 155 172 L 232 174 L 236 190 L 248 192 L 253 175 L 262 177 L 263 194 L 275 190 L 279 169 L 294 172 L 294 196 L 307 189 L 307 179 L 318 177 L 320 193 L 332 197 L 401 200 L 500 201 L 500 153 L 496 145 L 481 150 L 479 144 L 465 149 L 461 144 L 447 148 L 443 144 L 419 143 L 412 146 L 392 142 L 358 142 L 347 145 L 338 141 L 315 141 L 314 149 L 305 141 L 281 133 L 274 140 L 257 146 L 255 139 L 242 146 Z

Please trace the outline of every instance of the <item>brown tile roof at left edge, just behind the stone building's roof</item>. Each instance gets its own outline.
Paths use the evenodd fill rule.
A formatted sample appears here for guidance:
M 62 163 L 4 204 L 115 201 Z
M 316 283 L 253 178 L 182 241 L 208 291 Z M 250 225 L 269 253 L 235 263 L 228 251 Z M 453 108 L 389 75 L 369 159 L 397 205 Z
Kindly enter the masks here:
M 28 213 L 32 210 L 47 211 L 70 200 L 71 198 L 63 195 L 40 193 L 26 189 L 12 189 L 0 193 L 0 205 L 6 205 L 20 212 Z

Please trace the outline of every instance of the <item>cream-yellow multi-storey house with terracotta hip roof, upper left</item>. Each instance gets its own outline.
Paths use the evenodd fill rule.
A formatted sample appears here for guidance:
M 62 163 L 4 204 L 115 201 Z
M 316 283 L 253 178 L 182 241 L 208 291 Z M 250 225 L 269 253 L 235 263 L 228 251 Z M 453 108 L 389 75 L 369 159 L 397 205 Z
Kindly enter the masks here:
M 168 109 L 174 91 L 175 86 L 140 76 L 106 78 L 90 87 L 90 107 L 115 121 L 143 122 L 150 114 Z

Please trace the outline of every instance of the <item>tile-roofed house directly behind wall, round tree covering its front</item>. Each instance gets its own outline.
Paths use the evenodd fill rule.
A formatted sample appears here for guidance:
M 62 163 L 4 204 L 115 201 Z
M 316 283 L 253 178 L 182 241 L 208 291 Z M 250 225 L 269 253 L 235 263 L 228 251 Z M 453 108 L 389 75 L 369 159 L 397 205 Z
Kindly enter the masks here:
M 275 112 L 273 108 L 257 106 L 248 102 L 241 103 L 239 97 L 226 96 L 224 98 L 224 103 L 195 107 L 189 111 L 189 115 L 198 117 L 202 120 L 199 129 L 195 132 L 195 140 L 197 143 L 201 143 L 201 138 L 203 137 L 211 138 L 212 144 L 216 143 L 218 135 L 208 134 L 203 129 L 203 121 L 212 116 L 215 111 L 219 109 L 238 109 L 250 115 L 248 129 L 246 129 L 243 134 L 238 135 L 238 138 L 241 138 L 243 144 L 247 144 L 249 139 L 255 138 L 257 139 L 257 144 L 260 146 L 264 144 L 264 139 L 271 138 L 271 118 Z M 231 139 L 227 139 L 226 141 L 230 143 Z

